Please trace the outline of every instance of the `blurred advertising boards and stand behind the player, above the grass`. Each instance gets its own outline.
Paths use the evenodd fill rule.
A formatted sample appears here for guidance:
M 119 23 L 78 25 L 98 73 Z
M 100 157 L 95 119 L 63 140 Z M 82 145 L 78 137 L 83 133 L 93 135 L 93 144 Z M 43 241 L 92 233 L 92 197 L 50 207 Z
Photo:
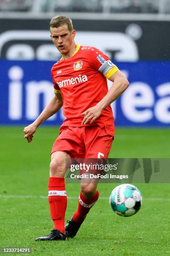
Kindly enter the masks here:
M 50 69 L 60 54 L 48 23 L 64 14 L 76 42 L 104 51 L 130 81 L 112 104 L 116 125 L 169 127 L 169 13 L 170 0 L 1 0 L 0 124 L 32 122 L 52 97 Z M 46 124 L 62 120 L 60 111 Z

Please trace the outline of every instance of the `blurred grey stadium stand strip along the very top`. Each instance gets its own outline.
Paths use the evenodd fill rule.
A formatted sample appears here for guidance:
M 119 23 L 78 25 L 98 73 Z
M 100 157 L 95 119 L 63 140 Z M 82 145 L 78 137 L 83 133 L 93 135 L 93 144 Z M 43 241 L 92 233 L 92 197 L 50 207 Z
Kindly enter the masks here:
M 0 12 L 170 13 L 170 0 L 1 0 Z

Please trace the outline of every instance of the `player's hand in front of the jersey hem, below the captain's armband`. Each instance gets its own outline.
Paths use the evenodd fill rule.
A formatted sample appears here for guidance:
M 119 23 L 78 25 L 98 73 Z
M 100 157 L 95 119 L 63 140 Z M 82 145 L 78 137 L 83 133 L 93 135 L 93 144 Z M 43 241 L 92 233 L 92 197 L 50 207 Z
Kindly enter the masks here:
M 86 124 L 90 121 L 90 124 L 94 122 L 102 113 L 101 108 L 98 106 L 94 106 L 92 108 L 88 108 L 81 115 L 84 115 L 84 119 L 82 120 L 82 124 Z

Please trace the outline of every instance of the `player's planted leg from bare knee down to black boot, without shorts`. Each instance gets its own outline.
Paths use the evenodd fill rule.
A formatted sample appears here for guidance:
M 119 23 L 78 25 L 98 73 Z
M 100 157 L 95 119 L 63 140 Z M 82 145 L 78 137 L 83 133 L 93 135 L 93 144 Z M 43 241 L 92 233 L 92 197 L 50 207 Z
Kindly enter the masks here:
M 48 236 L 37 238 L 36 241 L 65 240 L 66 238 L 64 225 L 67 194 L 64 175 L 70 162 L 70 156 L 65 151 L 55 151 L 51 155 L 48 202 L 54 230 Z

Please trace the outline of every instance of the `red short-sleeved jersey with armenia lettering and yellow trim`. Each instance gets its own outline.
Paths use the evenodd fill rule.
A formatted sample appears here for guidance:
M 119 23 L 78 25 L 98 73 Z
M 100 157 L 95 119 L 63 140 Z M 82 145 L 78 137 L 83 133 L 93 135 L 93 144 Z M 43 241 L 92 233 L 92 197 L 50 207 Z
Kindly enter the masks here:
M 105 126 L 107 134 L 114 136 L 114 118 L 111 106 L 102 110 L 92 123 L 82 125 L 83 113 L 95 106 L 107 94 L 107 78 L 118 68 L 109 57 L 95 47 L 80 46 L 69 59 L 61 59 L 52 66 L 51 74 L 55 93 L 61 92 L 63 115 L 62 126 Z

